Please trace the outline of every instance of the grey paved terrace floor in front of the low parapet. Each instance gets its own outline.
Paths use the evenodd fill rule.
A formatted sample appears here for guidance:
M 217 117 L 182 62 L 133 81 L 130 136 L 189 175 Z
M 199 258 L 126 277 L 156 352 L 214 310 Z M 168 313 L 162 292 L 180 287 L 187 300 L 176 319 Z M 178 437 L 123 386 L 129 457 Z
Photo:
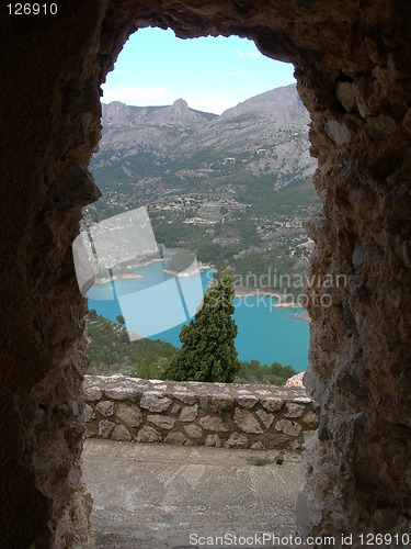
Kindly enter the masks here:
M 88 439 L 83 474 L 94 501 L 92 547 L 288 547 L 240 539 L 212 546 L 201 538 L 295 535 L 300 458 L 285 455 L 278 464 L 277 457 L 274 450 Z

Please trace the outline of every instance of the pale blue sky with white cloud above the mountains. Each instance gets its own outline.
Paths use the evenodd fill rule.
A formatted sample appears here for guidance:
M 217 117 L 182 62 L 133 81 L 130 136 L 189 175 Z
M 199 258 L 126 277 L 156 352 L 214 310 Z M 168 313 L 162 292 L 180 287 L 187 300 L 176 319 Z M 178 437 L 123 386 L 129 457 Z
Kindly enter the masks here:
M 220 114 L 264 91 L 295 82 L 294 67 L 264 57 L 238 36 L 180 40 L 173 31 L 133 34 L 102 86 L 103 103 L 139 107 L 185 99 L 192 109 Z

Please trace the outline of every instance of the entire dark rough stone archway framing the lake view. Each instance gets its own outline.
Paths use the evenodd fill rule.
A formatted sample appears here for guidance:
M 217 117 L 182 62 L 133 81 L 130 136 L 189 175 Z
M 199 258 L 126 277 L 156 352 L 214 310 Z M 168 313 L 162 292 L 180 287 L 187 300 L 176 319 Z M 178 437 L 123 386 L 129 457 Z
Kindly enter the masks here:
M 410 530 L 410 46 L 406 0 L 105 0 L 1 14 L 2 538 L 85 545 L 82 316 L 71 242 L 99 191 L 87 172 L 99 86 L 139 26 L 238 34 L 294 63 L 311 114 L 313 288 L 308 388 L 321 426 L 298 500 L 304 534 Z M 329 293 L 332 306 L 316 305 Z

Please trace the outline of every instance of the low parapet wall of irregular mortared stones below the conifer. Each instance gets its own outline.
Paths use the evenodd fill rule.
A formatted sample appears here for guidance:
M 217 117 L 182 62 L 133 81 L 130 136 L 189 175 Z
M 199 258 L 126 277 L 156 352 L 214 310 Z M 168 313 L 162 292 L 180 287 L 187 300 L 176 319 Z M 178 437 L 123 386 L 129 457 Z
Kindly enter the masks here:
M 89 437 L 298 450 L 318 426 L 305 389 L 87 376 L 84 393 Z

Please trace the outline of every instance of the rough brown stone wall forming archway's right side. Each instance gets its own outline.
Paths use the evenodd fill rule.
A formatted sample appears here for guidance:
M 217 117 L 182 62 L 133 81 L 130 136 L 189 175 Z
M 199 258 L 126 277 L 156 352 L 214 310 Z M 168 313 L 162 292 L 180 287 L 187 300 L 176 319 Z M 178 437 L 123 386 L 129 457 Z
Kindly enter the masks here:
M 305 534 L 353 533 L 355 547 L 359 534 L 411 531 L 410 8 L 373 2 L 329 96 L 300 86 L 323 202 L 310 272 L 346 283 L 312 289 L 308 307 L 305 383 L 321 424 L 297 519 Z

